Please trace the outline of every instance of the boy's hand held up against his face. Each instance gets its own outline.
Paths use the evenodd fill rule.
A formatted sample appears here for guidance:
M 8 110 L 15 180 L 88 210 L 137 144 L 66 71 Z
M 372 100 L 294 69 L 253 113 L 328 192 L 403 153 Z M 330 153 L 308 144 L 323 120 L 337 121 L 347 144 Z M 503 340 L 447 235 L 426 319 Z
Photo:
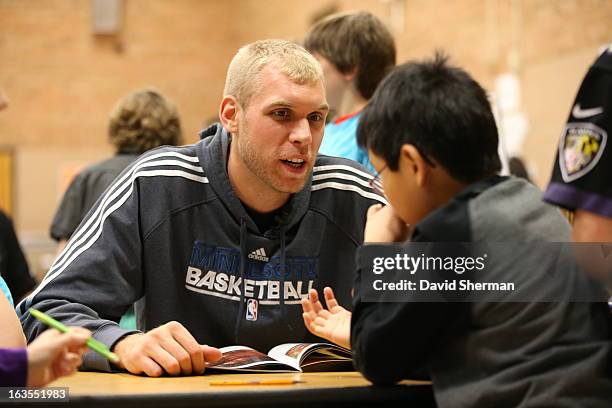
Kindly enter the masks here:
M 374 204 L 368 209 L 364 242 L 402 242 L 408 239 L 408 225 L 390 205 Z

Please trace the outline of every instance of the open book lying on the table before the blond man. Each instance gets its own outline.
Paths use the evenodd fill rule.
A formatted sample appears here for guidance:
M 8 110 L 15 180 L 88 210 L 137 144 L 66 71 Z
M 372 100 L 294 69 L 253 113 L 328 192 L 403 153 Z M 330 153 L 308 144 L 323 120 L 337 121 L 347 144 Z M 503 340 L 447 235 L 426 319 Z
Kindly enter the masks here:
M 207 370 L 240 372 L 353 371 L 351 351 L 328 343 L 286 343 L 263 354 L 245 346 L 220 349 L 221 359 Z

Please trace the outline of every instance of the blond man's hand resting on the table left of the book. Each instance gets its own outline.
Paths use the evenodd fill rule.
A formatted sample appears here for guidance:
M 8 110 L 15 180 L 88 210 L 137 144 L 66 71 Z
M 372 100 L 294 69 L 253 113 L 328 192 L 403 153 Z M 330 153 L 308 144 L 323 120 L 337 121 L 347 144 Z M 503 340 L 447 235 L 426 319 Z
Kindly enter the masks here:
M 207 362 L 221 358 L 221 351 L 199 344 L 178 322 L 168 322 L 145 334 L 132 334 L 120 340 L 113 351 L 119 366 L 132 374 L 159 377 L 202 374 Z

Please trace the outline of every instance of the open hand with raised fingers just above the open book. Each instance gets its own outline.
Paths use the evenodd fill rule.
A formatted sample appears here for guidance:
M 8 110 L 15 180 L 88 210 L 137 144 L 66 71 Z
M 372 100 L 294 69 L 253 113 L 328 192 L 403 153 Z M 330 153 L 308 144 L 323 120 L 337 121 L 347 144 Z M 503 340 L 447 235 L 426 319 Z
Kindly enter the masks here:
M 323 289 L 327 309 L 319 301 L 315 289 L 302 299 L 302 317 L 308 331 L 342 347 L 351 348 L 351 312 L 338 304 L 334 291 Z

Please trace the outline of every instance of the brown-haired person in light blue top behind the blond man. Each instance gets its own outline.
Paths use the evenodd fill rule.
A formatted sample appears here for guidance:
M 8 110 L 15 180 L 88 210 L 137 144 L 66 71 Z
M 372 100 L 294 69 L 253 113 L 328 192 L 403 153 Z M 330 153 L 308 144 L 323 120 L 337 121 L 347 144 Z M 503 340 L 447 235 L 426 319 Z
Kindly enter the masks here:
M 357 146 L 356 131 L 363 107 L 395 65 L 391 32 L 366 11 L 337 13 L 315 24 L 304 46 L 323 67 L 334 113 L 319 153 L 355 160 L 373 170 L 368 153 Z

